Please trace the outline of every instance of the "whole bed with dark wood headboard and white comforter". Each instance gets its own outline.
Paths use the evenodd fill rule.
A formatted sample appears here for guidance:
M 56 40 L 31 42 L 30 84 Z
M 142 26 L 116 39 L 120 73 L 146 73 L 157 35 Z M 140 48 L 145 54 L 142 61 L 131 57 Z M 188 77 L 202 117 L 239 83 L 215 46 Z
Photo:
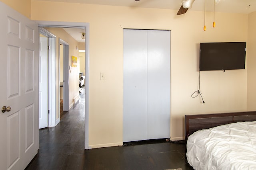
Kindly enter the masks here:
M 185 115 L 185 140 L 196 170 L 256 169 L 256 111 Z

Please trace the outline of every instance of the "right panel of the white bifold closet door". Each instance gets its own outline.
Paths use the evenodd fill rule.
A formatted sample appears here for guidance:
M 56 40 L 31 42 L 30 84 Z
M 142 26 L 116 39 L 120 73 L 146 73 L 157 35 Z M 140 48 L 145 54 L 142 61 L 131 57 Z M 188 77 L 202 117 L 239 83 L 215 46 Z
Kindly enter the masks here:
M 148 30 L 147 139 L 170 137 L 170 31 Z

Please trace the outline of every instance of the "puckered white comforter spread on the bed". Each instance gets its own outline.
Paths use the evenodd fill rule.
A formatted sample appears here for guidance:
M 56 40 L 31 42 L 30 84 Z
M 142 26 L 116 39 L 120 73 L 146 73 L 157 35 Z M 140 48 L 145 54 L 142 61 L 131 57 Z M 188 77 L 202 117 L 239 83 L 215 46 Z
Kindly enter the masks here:
M 256 170 L 256 121 L 193 133 L 187 158 L 195 170 Z

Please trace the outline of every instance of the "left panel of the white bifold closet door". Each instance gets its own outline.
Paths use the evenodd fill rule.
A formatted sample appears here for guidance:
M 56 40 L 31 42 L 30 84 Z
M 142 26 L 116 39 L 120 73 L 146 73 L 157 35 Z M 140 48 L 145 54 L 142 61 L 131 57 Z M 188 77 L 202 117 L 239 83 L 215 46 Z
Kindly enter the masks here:
M 147 32 L 124 29 L 123 141 L 147 139 Z

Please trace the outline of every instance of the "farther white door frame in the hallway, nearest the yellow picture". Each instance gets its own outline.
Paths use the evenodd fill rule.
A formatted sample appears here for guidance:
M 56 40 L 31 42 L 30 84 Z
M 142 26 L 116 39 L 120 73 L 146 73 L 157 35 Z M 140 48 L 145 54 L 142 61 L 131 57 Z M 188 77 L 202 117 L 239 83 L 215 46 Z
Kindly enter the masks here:
M 68 111 L 69 110 L 69 74 L 68 74 L 69 44 L 63 39 L 59 38 L 59 58 L 58 58 L 59 61 L 60 61 L 60 45 L 63 45 L 63 70 L 62 70 L 63 71 L 63 111 Z M 60 77 L 60 70 L 59 70 L 59 77 Z M 58 90 L 58 92 L 60 96 L 60 90 Z M 59 104 L 59 110 L 60 110 L 60 104 Z

